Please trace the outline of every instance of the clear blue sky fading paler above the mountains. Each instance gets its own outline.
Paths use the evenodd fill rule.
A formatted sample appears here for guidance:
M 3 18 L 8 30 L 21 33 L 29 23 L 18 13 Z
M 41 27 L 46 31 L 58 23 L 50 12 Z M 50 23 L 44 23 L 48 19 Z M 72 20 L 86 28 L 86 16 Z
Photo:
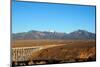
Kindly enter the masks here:
M 95 32 L 95 6 L 12 2 L 12 32 Z

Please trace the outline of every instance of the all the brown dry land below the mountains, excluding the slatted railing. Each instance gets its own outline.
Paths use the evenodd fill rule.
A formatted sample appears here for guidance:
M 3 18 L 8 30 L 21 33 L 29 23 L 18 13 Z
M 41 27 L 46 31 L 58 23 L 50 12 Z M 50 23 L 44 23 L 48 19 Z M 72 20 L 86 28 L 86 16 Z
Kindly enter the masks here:
M 12 42 L 12 49 L 27 47 L 39 48 L 31 53 L 27 64 L 22 65 L 96 60 L 94 40 L 17 40 Z

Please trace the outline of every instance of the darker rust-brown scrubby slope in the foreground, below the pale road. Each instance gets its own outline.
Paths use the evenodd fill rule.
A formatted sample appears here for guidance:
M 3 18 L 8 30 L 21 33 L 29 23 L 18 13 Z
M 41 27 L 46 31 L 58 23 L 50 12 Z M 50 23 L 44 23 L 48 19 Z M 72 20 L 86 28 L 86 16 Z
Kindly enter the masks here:
M 86 59 L 96 55 L 94 41 L 73 41 L 66 45 L 56 46 L 48 49 L 43 49 L 33 53 L 33 60 L 71 60 L 71 59 Z

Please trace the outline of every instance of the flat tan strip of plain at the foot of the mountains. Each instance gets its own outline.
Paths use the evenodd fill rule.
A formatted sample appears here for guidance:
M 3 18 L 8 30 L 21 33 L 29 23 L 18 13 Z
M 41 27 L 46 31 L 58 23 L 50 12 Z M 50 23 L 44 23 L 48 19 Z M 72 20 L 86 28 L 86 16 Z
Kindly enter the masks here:
M 86 43 L 89 43 L 89 46 L 91 46 L 91 43 L 95 44 L 95 41 L 94 40 L 92 41 L 91 40 L 85 40 L 85 41 L 83 40 L 15 40 L 12 41 L 11 46 L 12 48 L 16 48 L 16 47 L 32 47 L 32 46 L 71 44 L 71 43 L 75 44 L 75 46 L 81 45 L 83 47 L 85 46 Z M 72 45 L 72 47 L 74 47 L 74 45 Z

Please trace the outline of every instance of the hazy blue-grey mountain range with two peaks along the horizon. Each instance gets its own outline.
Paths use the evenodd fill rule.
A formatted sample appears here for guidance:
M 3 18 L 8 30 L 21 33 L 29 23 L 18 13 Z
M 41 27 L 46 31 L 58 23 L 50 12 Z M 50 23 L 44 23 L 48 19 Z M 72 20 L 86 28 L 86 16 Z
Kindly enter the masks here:
M 12 33 L 14 40 L 34 40 L 34 39 L 69 39 L 69 40 L 95 40 L 96 34 L 85 30 L 76 30 L 71 33 L 36 31 Z

